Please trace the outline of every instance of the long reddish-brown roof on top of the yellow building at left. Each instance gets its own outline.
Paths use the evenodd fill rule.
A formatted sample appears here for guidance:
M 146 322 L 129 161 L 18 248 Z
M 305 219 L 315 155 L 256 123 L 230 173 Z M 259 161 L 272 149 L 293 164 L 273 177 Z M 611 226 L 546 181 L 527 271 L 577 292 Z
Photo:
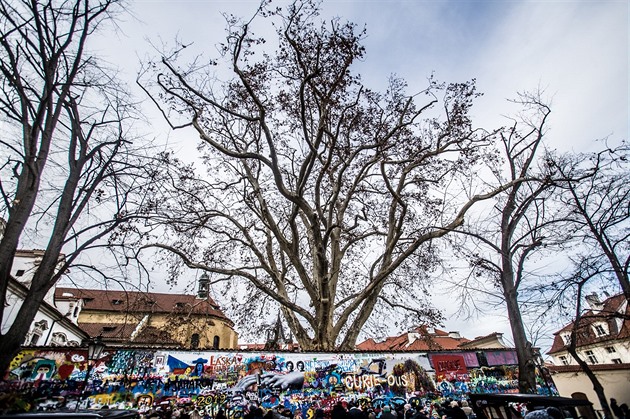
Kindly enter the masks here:
M 232 322 L 212 298 L 199 299 L 194 295 L 156 292 L 114 291 L 62 288 L 55 289 L 55 300 L 83 299 L 83 310 L 128 313 L 191 313 L 210 315 L 230 325 Z

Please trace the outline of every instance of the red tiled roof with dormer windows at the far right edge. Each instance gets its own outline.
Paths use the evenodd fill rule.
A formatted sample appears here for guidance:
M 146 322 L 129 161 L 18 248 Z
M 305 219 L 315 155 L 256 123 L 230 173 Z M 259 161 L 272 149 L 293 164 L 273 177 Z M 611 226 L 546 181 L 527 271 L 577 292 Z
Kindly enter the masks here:
M 576 329 L 576 347 L 579 348 L 612 340 L 630 339 L 630 304 L 626 304 L 625 311 L 623 313 L 618 313 L 625 301 L 626 299 L 623 294 L 614 295 L 601 303 L 601 310 L 587 311 L 586 314 L 580 318 L 580 323 Z M 615 313 L 624 317 L 621 327 L 618 327 L 617 325 L 620 317 L 614 316 Z M 597 322 L 604 322 L 608 325 L 609 333 L 607 335 L 595 335 L 595 331 L 591 326 Z M 571 330 L 573 330 L 574 323 L 575 322 L 571 322 L 554 333 L 555 337 L 553 345 L 551 345 L 551 349 L 547 352 L 548 354 L 554 354 L 566 350 L 567 345 L 562 339 L 562 334 L 563 332 L 571 332 Z

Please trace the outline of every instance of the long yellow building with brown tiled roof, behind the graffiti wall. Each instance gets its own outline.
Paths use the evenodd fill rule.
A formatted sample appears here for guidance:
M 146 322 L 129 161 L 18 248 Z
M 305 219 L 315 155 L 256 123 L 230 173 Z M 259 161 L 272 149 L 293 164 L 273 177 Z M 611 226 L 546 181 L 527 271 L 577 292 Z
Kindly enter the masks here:
M 55 302 L 108 346 L 237 348 L 234 324 L 207 294 L 166 294 L 58 287 Z

